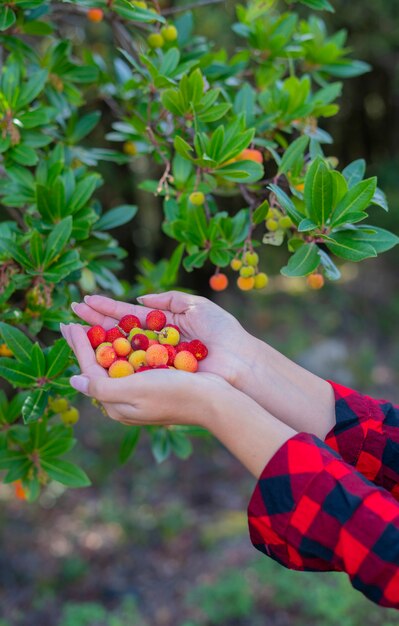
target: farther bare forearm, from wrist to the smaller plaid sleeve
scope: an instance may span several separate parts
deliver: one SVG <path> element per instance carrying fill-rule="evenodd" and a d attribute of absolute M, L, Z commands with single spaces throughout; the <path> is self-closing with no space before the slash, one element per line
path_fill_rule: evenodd
<path fill-rule="evenodd" d="M 297 432 L 324 439 L 335 425 L 331 385 L 259 339 L 246 339 L 235 386 Z"/>

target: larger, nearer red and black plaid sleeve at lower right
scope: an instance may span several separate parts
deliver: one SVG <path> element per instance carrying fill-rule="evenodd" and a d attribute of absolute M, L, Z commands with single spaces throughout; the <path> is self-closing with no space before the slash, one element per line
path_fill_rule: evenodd
<path fill-rule="evenodd" d="M 399 609 L 399 504 L 314 435 L 298 433 L 268 462 L 248 522 L 253 545 L 285 567 L 346 572 Z"/>

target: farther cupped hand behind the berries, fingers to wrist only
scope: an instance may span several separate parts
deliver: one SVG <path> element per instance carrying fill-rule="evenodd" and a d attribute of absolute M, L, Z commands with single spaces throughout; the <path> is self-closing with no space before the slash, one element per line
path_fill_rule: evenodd
<path fill-rule="evenodd" d="M 151 294 L 139 298 L 144 306 L 127 304 L 104 296 L 86 296 L 74 303 L 73 310 L 90 325 L 106 330 L 128 314 L 142 323 L 153 309 L 165 312 L 167 321 L 182 331 L 183 341 L 200 339 L 208 347 L 207 358 L 199 363 L 200 372 L 216 374 L 234 386 L 254 363 L 252 337 L 230 313 L 202 296 L 180 291 Z"/>

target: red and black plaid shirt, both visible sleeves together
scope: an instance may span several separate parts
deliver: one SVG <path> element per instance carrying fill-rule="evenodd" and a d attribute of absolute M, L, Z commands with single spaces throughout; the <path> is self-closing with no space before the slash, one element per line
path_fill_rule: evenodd
<path fill-rule="evenodd" d="M 298 433 L 267 463 L 248 505 L 251 541 L 290 569 L 346 572 L 399 609 L 399 407 L 330 384 L 336 425 L 325 441 Z"/>

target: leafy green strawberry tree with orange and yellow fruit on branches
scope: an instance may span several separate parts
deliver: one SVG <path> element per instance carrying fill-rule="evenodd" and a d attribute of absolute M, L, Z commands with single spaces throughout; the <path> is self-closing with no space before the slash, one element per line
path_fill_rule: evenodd
<path fill-rule="evenodd" d="M 49 480 L 89 484 L 64 459 L 79 415 L 76 365 L 58 331 L 73 300 L 97 290 L 129 299 L 204 265 L 215 290 L 234 271 L 238 288 L 263 289 L 261 246 L 285 246 L 282 274 L 320 288 L 339 279 L 342 259 L 398 242 L 365 222 L 388 210 L 377 180 L 362 159 L 341 167 L 323 129 L 342 80 L 369 69 L 350 57 L 344 31 L 328 32 L 323 10 L 333 10 L 327 0 L 237 4 L 227 51 L 190 11 L 157 0 L 2 3 L 0 470 L 30 500 Z M 86 31 L 109 42 L 106 54 L 85 45 Z M 143 259 L 130 286 L 118 280 L 127 253 L 112 231 L 138 208 L 104 206 L 97 169 L 139 159 L 140 187 L 158 197 L 176 245 L 168 259 Z M 184 429 L 148 430 L 158 461 L 189 455 Z M 129 431 L 121 460 L 140 432 Z"/>

